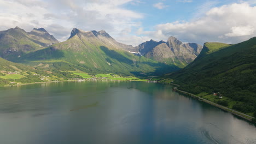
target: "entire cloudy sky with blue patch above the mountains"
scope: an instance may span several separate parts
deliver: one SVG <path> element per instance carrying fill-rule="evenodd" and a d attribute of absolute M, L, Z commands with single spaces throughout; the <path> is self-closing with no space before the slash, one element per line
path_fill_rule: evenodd
<path fill-rule="evenodd" d="M 256 1 L 0 0 L 0 31 L 43 27 L 60 41 L 73 28 L 104 29 L 121 43 L 146 40 L 239 43 L 256 36 Z"/>

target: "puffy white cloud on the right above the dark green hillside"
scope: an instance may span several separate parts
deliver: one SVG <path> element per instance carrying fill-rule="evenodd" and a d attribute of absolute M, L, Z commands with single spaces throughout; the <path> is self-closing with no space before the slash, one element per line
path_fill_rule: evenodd
<path fill-rule="evenodd" d="M 255 14 L 256 7 L 248 3 L 234 3 L 212 8 L 202 17 L 191 21 L 157 25 L 152 32 L 139 29 L 137 34 L 147 35 L 156 40 L 166 40 L 172 35 L 190 43 L 219 41 L 235 44 L 256 36 Z"/>

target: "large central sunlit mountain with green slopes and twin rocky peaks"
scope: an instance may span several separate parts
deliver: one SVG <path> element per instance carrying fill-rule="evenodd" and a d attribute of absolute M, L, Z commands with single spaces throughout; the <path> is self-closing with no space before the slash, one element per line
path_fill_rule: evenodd
<path fill-rule="evenodd" d="M 152 59 L 135 56 L 132 46 L 115 41 L 105 31 L 83 31 L 74 28 L 67 41 L 27 53 L 16 62 L 45 69 L 81 70 L 91 75 L 118 73 L 123 75 L 155 75 L 178 70 Z"/>

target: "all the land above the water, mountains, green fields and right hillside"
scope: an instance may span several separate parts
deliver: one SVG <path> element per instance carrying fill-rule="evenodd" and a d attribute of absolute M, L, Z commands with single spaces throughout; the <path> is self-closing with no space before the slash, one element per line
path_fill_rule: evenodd
<path fill-rule="evenodd" d="M 255 115 L 255 38 L 235 45 L 205 43 L 202 47 L 170 37 L 167 42 L 150 40 L 133 47 L 118 43 L 103 30 L 74 28 L 68 40 L 61 43 L 44 28 L 26 33 L 16 27 L 0 33 L 0 41 L 19 35 L 12 37 L 18 45 L 9 40 L 5 41 L 9 48 L 0 46 L 5 58 L 0 63 L 0 86 L 156 80 L 176 83 L 182 91 Z M 42 42 L 35 45 L 28 41 L 34 39 Z"/>

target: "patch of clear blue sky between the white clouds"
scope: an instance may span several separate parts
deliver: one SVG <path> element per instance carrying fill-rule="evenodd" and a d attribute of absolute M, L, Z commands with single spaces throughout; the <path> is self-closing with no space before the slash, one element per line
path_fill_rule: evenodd
<path fill-rule="evenodd" d="M 155 25 L 174 21 L 189 21 L 202 16 L 207 9 L 229 4 L 235 1 L 140 1 L 137 4 L 126 4 L 124 8 L 144 15 L 140 21 L 146 31 L 153 31 Z M 155 4 L 162 8 L 154 7 Z"/>

